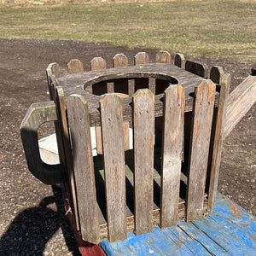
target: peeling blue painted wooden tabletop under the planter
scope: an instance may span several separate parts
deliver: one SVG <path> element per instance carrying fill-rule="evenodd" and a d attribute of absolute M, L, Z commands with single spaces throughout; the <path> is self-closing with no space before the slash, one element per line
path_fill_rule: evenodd
<path fill-rule="evenodd" d="M 102 241 L 107 255 L 256 255 L 256 217 L 223 195 L 212 214 L 189 223 L 135 236 Z"/>

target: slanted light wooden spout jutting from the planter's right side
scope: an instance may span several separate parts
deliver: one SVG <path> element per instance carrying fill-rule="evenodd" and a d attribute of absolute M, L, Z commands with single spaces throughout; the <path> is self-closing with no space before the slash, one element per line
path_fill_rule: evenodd
<path fill-rule="evenodd" d="M 234 129 L 256 102 L 256 76 L 249 75 L 230 93 L 224 128 L 224 138 Z"/>

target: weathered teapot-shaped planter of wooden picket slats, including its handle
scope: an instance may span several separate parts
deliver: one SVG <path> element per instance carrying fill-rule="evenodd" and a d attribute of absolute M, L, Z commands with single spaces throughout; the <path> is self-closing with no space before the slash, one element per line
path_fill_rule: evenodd
<path fill-rule="evenodd" d="M 64 184 L 84 241 L 123 240 L 212 212 L 222 142 L 236 125 L 225 119 L 230 75 L 181 54 L 173 65 L 166 51 L 148 62 L 141 52 L 128 67 L 119 54 L 107 69 L 96 57 L 84 72 L 72 60 L 65 74 L 51 63 L 51 101 L 33 104 L 21 124 L 30 171 Z M 46 121 L 55 121 L 60 165 L 34 153 Z"/>

